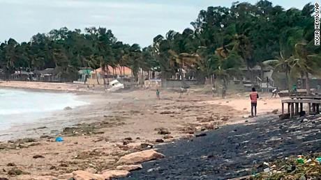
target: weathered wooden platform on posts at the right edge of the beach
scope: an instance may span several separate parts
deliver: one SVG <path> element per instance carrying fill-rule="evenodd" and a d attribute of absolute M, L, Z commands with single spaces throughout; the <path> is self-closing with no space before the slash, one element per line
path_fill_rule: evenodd
<path fill-rule="evenodd" d="M 307 104 L 308 114 L 319 114 L 321 96 L 291 96 L 292 99 L 282 100 L 282 115 L 284 115 L 284 104 L 288 104 L 290 118 L 299 115 L 304 111 L 304 104 Z"/>

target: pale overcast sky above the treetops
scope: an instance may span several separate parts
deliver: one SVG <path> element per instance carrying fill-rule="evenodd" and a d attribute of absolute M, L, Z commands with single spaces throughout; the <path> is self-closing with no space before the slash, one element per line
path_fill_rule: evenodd
<path fill-rule="evenodd" d="M 200 10 L 230 7 L 235 0 L 0 0 L 0 42 L 30 40 L 54 28 L 112 29 L 118 40 L 142 47 L 170 29 L 191 27 Z M 241 2 L 241 1 L 240 1 Z M 255 3 L 256 0 L 247 2 Z M 285 8 L 303 8 L 307 0 L 272 0 Z"/>

